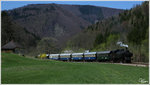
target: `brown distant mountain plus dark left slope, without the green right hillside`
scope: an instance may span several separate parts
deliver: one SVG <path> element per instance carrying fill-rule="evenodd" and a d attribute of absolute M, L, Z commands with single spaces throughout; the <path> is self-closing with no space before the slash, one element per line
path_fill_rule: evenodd
<path fill-rule="evenodd" d="M 30 4 L 2 12 L 2 45 L 14 40 L 31 54 L 58 53 L 72 36 L 123 10 L 90 5 Z M 37 50 L 37 51 L 36 51 Z"/>

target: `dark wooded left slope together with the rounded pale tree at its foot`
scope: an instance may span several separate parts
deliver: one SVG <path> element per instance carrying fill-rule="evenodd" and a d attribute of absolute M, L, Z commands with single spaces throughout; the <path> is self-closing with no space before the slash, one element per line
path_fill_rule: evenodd
<path fill-rule="evenodd" d="M 22 26 L 15 23 L 8 14 L 2 12 L 2 43 L 13 40 L 21 46 L 21 53 L 25 55 L 37 55 L 40 53 L 57 53 L 58 49 L 57 40 L 52 37 L 40 38 L 35 34 L 27 31 Z M 50 50 L 51 49 L 51 50 Z"/>

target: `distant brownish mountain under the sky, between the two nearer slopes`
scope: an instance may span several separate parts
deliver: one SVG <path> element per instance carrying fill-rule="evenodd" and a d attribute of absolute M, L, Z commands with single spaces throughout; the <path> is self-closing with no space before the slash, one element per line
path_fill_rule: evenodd
<path fill-rule="evenodd" d="M 60 47 L 65 47 L 68 39 L 88 25 L 122 11 L 90 5 L 30 4 L 7 13 L 30 33 L 40 38 L 52 37 Z"/>

